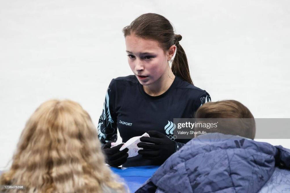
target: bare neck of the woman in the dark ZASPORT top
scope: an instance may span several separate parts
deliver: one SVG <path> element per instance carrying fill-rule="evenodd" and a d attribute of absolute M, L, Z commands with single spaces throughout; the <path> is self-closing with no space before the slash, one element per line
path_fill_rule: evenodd
<path fill-rule="evenodd" d="M 169 89 L 174 79 L 175 75 L 168 65 L 168 69 L 165 70 L 163 75 L 158 80 L 150 85 L 143 86 L 143 89 L 150 96 L 162 95 Z"/>

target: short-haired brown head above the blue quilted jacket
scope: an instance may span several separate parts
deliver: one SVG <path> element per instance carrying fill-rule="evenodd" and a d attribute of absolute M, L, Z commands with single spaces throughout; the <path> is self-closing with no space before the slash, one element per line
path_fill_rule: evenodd
<path fill-rule="evenodd" d="M 246 106 L 236 100 L 207 102 L 197 109 L 195 118 L 226 118 L 218 123 L 217 128 L 212 128 L 209 132 L 255 138 L 254 117 Z"/>

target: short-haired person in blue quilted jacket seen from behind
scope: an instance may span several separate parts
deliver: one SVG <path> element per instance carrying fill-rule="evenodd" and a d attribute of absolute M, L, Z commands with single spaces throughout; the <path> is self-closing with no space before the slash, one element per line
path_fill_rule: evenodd
<path fill-rule="evenodd" d="M 135 193 L 289 192 L 290 149 L 252 140 L 255 122 L 247 107 L 236 100 L 208 102 L 195 115 L 197 122 L 242 121 L 226 122 L 191 139 Z"/>

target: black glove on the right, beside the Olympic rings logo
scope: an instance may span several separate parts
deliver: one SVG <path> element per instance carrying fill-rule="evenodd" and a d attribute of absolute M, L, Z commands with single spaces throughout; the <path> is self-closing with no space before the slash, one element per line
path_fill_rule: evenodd
<path fill-rule="evenodd" d="M 176 151 L 177 144 L 158 131 L 148 131 L 147 133 L 150 137 L 141 137 L 141 142 L 137 144 L 138 147 L 143 148 L 138 151 L 138 154 L 141 154 L 144 159 L 154 160 L 155 163 L 164 163 Z"/>

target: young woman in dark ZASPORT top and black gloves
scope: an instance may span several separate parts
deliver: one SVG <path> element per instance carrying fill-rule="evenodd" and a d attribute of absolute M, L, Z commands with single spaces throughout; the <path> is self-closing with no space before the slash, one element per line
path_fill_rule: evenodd
<path fill-rule="evenodd" d="M 106 162 L 112 166 L 161 165 L 188 140 L 175 140 L 173 118 L 192 118 L 209 94 L 193 85 L 187 58 L 171 23 L 153 13 L 137 17 L 123 28 L 128 63 L 134 75 L 110 82 L 98 134 Z M 175 54 L 176 52 L 176 54 Z M 172 67 L 169 61 L 175 54 Z M 147 132 L 138 146 L 139 155 L 128 158 L 117 140 L 117 128 L 123 142 Z M 153 143 L 148 145 L 147 143 Z"/>

